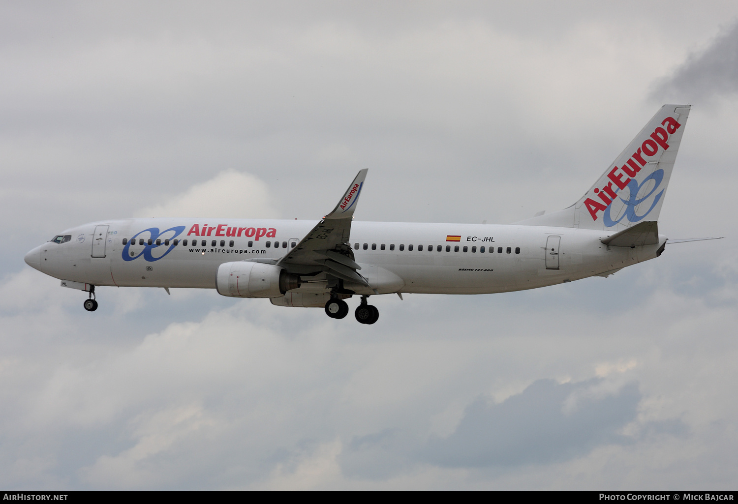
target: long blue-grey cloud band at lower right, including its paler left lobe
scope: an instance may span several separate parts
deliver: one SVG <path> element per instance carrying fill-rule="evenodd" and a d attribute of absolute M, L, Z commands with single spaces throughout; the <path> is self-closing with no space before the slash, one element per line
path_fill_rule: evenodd
<path fill-rule="evenodd" d="M 558 384 L 537 380 L 500 404 L 480 397 L 466 407 L 446 438 L 427 442 L 411 432 L 385 429 L 356 436 L 339 457 L 347 477 L 382 479 L 431 463 L 448 468 L 514 468 L 586 455 L 605 443 L 627 445 L 656 435 L 683 436 L 678 419 L 642 424 L 635 436 L 620 433 L 634 421 L 641 402 L 638 384 L 613 387 L 605 379 Z"/>

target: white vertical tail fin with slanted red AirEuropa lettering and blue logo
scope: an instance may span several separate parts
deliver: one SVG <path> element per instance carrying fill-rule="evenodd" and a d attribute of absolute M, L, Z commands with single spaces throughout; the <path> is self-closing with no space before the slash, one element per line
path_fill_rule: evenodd
<path fill-rule="evenodd" d="M 565 210 L 517 224 L 617 232 L 644 219 L 657 221 L 689 108 L 689 105 L 661 107 L 579 201 Z"/>

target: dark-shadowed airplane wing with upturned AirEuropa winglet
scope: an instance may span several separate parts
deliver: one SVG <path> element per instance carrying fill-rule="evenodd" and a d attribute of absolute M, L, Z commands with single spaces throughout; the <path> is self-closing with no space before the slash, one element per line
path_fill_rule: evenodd
<path fill-rule="evenodd" d="M 325 215 L 292 250 L 277 262 L 295 275 L 327 275 L 368 285 L 359 275 L 361 266 L 354 262 L 354 251 L 348 243 L 351 235 L 351 219 L 356 210 L 356 201 L 364 187 L 368 169 L 360 170 L 354 182 L 348 186 L 336 207 Z"/>

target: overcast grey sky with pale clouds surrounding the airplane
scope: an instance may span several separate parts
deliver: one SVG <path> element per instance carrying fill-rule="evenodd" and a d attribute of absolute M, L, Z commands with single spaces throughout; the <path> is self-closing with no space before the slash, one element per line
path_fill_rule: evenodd
<path fill-rule="evenodd" d="M 734 1 L 0 4 L 0 487 L 735 489 Z M 375 325 L 23 262 L 165 215 L 506 224 L 692 103 L 618 274 Z M 352 300 L 351 306 L 356 300 Z"/>

